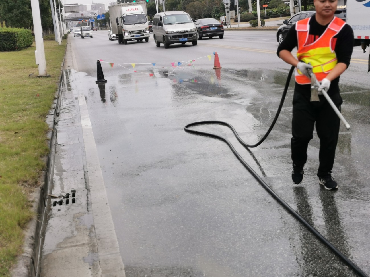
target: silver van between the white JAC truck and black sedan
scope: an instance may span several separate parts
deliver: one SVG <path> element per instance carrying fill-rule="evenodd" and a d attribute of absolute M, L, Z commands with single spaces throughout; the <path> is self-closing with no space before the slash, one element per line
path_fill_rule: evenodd
<path fill-rule="evenodd" d="M 193 20 L 185 11 L 165 11 L 153 17 L 153 38 L 157 47 L 170 44 L 191 42 L 196 45 L 198 32 Z"/>

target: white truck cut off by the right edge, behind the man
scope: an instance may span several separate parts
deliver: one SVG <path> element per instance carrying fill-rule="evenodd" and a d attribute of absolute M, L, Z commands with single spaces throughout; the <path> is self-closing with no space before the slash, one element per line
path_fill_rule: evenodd
<path fill-rule="evenodd" d="M 370 45 L 370 1 L 369 0 L 351 0 L 346 5 L 346 22 L 353 29 L 354 46 L 360 46 L 364 53 L 367 46 Z M 370 47 L 370 46 L 369 46 Z M 370 54 L 368 71 L 370 71 Z"/>

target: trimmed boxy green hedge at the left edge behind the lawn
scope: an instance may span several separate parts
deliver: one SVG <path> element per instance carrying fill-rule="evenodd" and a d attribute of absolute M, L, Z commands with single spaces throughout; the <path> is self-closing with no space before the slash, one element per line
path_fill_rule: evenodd
<path fill-rule="evenodd" d="M 19 51 L 32 46 L 31 30 L 21 28 L 0 28 L 0 51 Z"/>

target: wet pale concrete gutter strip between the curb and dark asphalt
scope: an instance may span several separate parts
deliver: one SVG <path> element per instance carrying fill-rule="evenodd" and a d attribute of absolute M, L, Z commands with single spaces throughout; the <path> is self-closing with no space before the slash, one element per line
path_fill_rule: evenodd
<path fill-rule="evenodd" d="M 39 276 L 125 276 L 87 106 L 67 43 Z M 37 275 L 37 273 L 36 273 Z"/>

